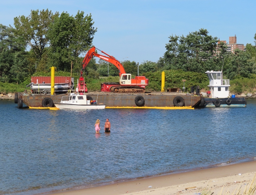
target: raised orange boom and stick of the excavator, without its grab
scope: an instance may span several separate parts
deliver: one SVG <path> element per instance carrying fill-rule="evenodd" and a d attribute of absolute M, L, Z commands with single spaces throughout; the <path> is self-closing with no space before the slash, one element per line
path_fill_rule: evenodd
<path fill-rule="evenodd" d="M 105 60 L 105 61 L 107 61 L 107 62 L 109 62 L 109 63 L 115 65 L 115 66 L 118 68 L 118 70 L 119 70 L 119 76 L 120 76 L 120 77 L 121 77 L 122 74 L 125 74 L 125 73 L 126 73 L 125 70 L 124 70 L 124 67 L 122 66 L 122 64 L 121 64 L 115 57 L 110 56 L 110 55 L 108 55 L 107 53 L 105 53 L 104 51 L 101 51 L 101 50 L 98 49 L 99 51 L 101 51 L 102 53 L 106 54 L 107 56 L 100 55 L 100 54 L 98 54 L 98 53 L 95 52 L 95 49 L 96 49 L 96 47 L 92 47 L 92 48 L 87 52 L 87 54 L 85 55 L 85 58 L 84 58 L 83 63 L 82 63 L 83 68 L 82 68 L 82 70 L 80 71 L 81 77 L 82 77 L 82 75 L 83 75 L 83 72 L 84 72 L 85 67 L 89 64 L 89 62 L 90 62 L 90 60 L 92 59 L 93 56 L 99 57 L 99 58 L 101 58 L 102 60 Z"/>

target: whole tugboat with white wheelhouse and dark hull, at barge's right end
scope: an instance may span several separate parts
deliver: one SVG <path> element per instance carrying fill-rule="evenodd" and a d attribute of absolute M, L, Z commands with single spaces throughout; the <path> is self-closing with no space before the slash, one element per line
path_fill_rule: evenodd
<path fill-rule="evenodd" d="M 222 71 L 206 71 L 210 80 L 210 91 L 207 91 L 205 107 L 246 107 L 244 97 L 229 96 L 229 79 L 223 79 Z"/>

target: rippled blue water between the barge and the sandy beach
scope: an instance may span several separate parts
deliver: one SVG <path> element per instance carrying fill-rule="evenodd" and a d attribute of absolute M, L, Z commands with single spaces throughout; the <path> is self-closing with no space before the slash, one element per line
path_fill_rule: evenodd
<path fill-rule="evenodd" d="M 246 108 L 34 110 L 0 101 L 0 194 L 36 194 L 256 157 Z M 100 119 L 100 134 L 94 124 Z M 105 119 L 111 133 L 103 132 Z"/>

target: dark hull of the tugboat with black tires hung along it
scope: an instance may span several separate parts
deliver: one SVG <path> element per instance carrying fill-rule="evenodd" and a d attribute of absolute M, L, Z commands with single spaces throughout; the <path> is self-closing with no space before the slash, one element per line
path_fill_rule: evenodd
<path fill-rule="evenodd" d="M 244 97 L 230 97 L 230 98 L 204 98 L 207 108 L 213 107 L 246 107 L 246 100 Z M 220 106 L 216 106 L 216 102 L 219 101 Z"/>

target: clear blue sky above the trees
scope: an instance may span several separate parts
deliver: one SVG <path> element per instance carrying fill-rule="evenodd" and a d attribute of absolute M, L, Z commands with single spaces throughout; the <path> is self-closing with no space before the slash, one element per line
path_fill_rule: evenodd
<path fill-rule="evenodd" d="M 14 17 L 47 8 L 91 13 L 97 27 L 93 44 L 119 61 L 156 62 L 171 34 L 186 36 L 200 28 L 227 42 L 236 34 L 237 43 L 255 44 L 254 0 L 2 0 L 0 23 L 13 26 Z"/>

